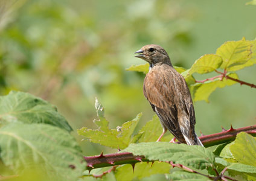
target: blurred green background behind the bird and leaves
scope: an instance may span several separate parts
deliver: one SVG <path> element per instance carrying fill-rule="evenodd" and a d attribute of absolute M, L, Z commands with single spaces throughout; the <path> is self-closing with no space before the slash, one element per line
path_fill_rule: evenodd
<path fill-rule="evenodd" d="M 110 127 L 142 112 L 141 127 L 154 113 L 142 93 L 145 75 L 125 71 L 145 63 L 133 53 L 158 44 L 173 65 L 190 68 L 227 40 L 255 39 L 256 6 L 246 2 L 0 0 L 0 94 L 21 90 L 50 101 L 74 135 L 82 126 L 95 128 L 95 97 Z M 255 84 L 255 70 L 245 68 L 238 76 Z M 235 84 L 209 100 L 194 103 L 197 134 L 255 124 L 255 89 Z M 86 155 L 103 149 L 88 142 L 82 147 Z"/>

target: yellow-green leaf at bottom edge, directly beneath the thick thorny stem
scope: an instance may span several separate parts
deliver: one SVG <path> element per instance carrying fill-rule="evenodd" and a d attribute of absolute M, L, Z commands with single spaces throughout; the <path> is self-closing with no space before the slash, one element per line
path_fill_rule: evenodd
<path fill-rule="evenodd" d="M 115 173 L 115 178 L 122 181 L 131 181 L 135 178 L 142 179 L 153 174 L 169 173 L 169 171 L 170 164 L 164 162 L 154 162 L 153 165 L 151 162 L 141 162 L 135 165 L 134 172 L 132 165 L 129 164 L 118 167 Z"/>

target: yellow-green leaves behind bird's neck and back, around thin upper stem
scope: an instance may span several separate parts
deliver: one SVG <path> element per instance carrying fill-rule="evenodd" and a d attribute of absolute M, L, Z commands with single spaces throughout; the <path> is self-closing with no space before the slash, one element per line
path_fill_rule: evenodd
<path fill-rule="evenodd" d="M 188 86 L 194 101 L 206 101 L 211 93 L 218 87 L 231 86 L 236 81 L 227 79 L 225 76 L 209 78 L 203 82 L 196 81 L 194 74 L 208 74 L 210 72 L 222 71 L 229 77 L 238 79 L 235 71 L 252 66 L 256 63 L 256 40 L 238 40 L 223 43 L 216 54 L 205 54 L 194 62 L 190 69 L 174 67 L 181 73 Z M 132 65 L 127 71 L 148 72 L 149 65 Z M 221 75 L 221 74 L 219 74 Z"/>

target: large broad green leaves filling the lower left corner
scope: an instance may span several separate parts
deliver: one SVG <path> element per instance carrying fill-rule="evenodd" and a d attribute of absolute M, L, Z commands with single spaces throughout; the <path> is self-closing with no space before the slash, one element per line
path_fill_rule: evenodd
<path fill-rule="evenodd" d="M 24 173 L 37 172 L 36 180 L 76 180 L 82 175 L 82 151 L 55 106 L 24 92 L 0 97 L 0 105 L 2 176 L 24 179 Z"/>

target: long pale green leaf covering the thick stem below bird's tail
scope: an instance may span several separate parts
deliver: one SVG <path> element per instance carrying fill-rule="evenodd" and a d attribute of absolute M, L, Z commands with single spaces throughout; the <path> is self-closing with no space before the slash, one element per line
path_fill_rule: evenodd
<path fill-rule="evenodd" d="M 130 144 L 123 152 L 144 155 L 149 160 L 173 161 L 197 169 L 214 164 L 214 154 L 198 145 L 170 144 L 169 142 L 142 142 Z"/>

